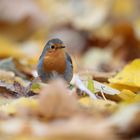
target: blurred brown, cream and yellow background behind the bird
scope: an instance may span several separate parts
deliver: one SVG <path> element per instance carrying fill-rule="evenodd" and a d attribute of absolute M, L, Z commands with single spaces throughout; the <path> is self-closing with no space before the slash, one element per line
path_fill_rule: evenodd
<path fill-rule="evenodd" d="M 78 70 L 118 71 L 140 57 L 139 7 L 139 0 L 0 0 L 0 59 L 14 58 L 30 75 L 57 37 Z"/>

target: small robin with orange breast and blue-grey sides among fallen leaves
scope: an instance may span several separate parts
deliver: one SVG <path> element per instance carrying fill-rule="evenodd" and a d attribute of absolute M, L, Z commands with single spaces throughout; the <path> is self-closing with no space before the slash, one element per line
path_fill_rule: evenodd
<path fill-rule="evenodd" d="M 54 38 L 46 43 L 39 58 L 37 72 L 42 82 L 62 78 L 70 83 L 73 77 L 73 64 L 63 41 Z"/>

